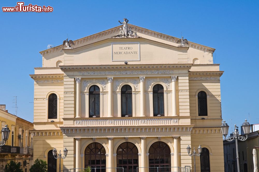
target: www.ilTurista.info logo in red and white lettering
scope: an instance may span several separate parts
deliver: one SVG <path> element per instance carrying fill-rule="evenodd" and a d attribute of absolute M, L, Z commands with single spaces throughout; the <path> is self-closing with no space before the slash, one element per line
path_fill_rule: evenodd
<path fill-rule="evenodd" d="M 17 2 L 15 7 L 2 7 L 3 12 L 52 12 L 51 6 L 24 5 L 24 2 Z"/>

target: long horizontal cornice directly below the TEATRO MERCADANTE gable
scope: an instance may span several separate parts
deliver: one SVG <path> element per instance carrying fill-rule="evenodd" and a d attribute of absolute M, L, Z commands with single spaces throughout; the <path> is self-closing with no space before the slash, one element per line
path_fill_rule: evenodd
<path fill-rule="evenodd" d="M 192 64 L 134 64 L 134 65 L 71 65 L 60 66 L 62 71 L 117 71 L 117 70 L 168 70 L 168 69 L 181 69 L 190 70 Z"/>

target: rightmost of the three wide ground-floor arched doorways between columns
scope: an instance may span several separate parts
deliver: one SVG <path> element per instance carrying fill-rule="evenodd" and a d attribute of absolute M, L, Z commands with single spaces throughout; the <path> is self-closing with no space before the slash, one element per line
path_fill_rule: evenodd
<path fill-rule="evenodd" d="M 157 172 L 157 168 L 159 167 L 158 171 L 171 171 L 171 154 L 170 154 L 169 146 L 162 142 L 157 141 L 153 143 L 149 148 L 149 172 Z"/>

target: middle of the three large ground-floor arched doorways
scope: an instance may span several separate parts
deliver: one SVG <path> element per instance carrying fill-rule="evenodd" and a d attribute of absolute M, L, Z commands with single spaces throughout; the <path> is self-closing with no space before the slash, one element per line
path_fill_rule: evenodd
<path fill-rule="evenodd" d="M 120 144 L 117 149 L 117 167 L 123 167 L 124 172 L 136 172 L 138 163 L 138 148 L 131 142 Z M 122 170 L 117 169 L 117 171 Z"/>

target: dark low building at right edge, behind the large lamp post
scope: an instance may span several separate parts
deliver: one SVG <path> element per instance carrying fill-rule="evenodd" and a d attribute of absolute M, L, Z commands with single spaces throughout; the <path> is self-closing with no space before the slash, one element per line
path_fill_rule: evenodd
<path fill-rule="evenodd" d="M 251 126 L 253 127 L 253 126 Z M 223 141 L 225 172 L 236 172 L 236 144 L 235 140 Z M 254 171 L 253 148 L 259 146 L 259 131 L 248 134 L 246 141 L 238 141 L 239 166 L 241 172 Z M 259 164 L 259 151 L 257 151 L 257 164 Z"/>

